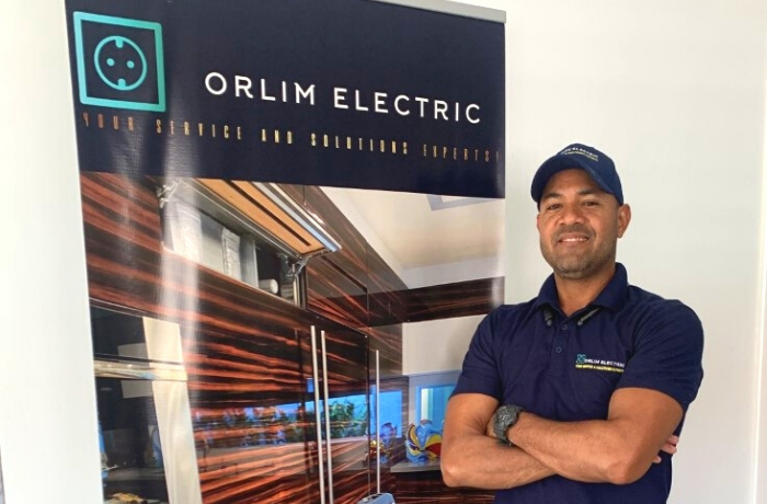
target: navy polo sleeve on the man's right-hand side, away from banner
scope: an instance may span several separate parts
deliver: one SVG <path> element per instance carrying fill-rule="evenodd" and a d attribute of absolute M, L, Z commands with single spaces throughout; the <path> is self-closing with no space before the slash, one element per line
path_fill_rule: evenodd
<path fill-rule="evenodd" d="M 698 316 L 682 302 L 659 305 L 637 327 L 634 352 L 617 388 L 657 390 L 687 411 L 703 378 L 703 329 Z"/>

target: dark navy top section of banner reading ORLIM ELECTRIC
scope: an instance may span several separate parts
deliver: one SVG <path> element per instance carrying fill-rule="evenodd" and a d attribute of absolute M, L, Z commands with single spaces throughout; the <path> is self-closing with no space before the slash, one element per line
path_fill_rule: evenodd
<path fill-rule="evenodd" d="M 67 1 L 80 165 L 502 197 L 503 24 L 375 1 Z"/>

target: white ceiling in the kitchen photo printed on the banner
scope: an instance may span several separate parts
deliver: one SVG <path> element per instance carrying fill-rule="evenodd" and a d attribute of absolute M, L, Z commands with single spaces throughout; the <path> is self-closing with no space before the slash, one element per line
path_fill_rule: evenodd
<path fill-rule="evenodd" d="M 398 273 L 502 253 L 503 199 L 322 190 Z"/>

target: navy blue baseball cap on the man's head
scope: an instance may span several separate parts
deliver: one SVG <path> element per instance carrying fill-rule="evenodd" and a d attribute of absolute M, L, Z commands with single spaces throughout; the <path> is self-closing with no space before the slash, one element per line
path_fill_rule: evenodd
<path fill-rule="evenodd" d="M 585 170 L 604 192 L 618 199 L 618 205 L 623 204 L 623 190 L 620 186 L 620 177 L 615 170 L 613 160 L 607 154 L 583 144 L 572 144 L 565 147 L 540 165 L 533 177 L 533 186 L 530 187 L 533 199 L 540 203 L 549 179 L 563 170 L 573 168 Z"/>

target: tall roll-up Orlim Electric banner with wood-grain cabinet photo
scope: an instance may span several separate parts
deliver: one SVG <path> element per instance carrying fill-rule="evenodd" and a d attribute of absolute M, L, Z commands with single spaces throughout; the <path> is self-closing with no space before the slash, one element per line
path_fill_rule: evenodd
<path fill-rule="evenodd" d="M 182 364 L 152 376 L 190 398 L 183 440 L 151 387 L 96 378 L 105 500 L 389 491 L 370 474 L 422 420 L 407 375 L 457 369 L 461 355 L 426 348 L 462 354 L 472 317 L 503 298 L 505 14 L 442 0 L 66 12 L 94 358 Z M 157 357 L 148 320 L 178 324 L 182 363 Z"/>

